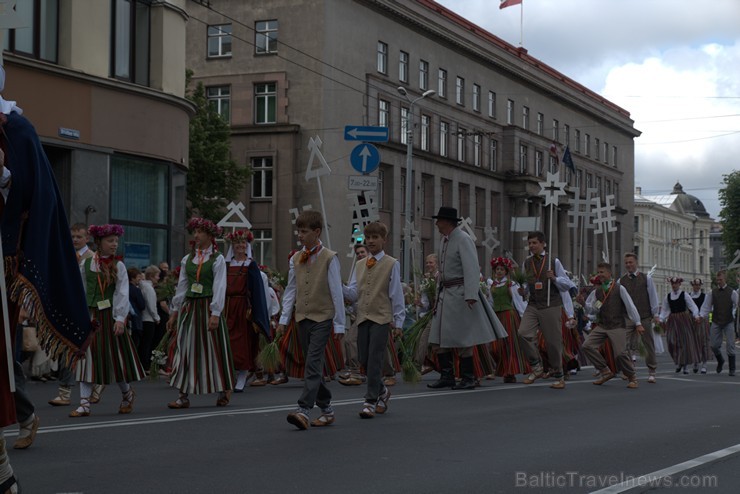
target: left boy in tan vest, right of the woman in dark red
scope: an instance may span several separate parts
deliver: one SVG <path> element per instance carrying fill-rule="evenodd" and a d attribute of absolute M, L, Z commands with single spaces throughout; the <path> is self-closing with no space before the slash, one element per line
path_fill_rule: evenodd
<path fill-rule="evenodd" d="M 314 427 L 334 423 L 331 391 L 324 384 L 324 348 L 332 332 L 344 334 L 344 299 L 337 253 L 323 246 L 321 231 L 324 218 L 318 211 L 308 210 L 296 219 L 298 240 L 303 249 L 290 258 L 288 286 L 283 293 L 283 311 L 277 335 L 285 332 L 293 309 L 298 324 L 298 338 L 306 359 L 303 392 L 298 409 L 288 414 L 288 422 L 299 429 L 308 429 L 308 417 L 314 405 L 321 408 Z"/>

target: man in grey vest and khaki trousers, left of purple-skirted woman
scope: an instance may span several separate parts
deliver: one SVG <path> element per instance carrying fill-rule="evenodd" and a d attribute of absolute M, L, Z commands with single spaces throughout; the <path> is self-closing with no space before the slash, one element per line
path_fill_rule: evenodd
<path fill-rule="evenodd" d="M 654 384 L 658 363 L 655 358 L 653 322 L 657 322 L 660 315 L 658 292 L 655 289 L 653 277 L 637 270 L 637 254 L 627 252 L 624 255 L 624 268 L 627 273 L 619 279 L 619 284 L 627 289 L 627 293 L 640 314 L 642 327 L 645 328 L 645 331 L 638 333 L 635 324 L 627 319 L 627 349 L 630 355 L 637 354 L 638 338 L 642 339 L 645 347 L 645 365 L 648 368 L 648 382 Z"/>

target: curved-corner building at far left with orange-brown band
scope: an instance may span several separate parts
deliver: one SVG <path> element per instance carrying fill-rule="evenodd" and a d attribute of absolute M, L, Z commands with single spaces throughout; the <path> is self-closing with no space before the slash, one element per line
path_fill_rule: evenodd
<path fill-rule="evenodd" d="M 3 97 L 36 127 L 70 222 L 123 224 L 131 265 L 179 259 L 185 245 L 186 7 L 28 0 L 24 27 L 2 37 Z"/>

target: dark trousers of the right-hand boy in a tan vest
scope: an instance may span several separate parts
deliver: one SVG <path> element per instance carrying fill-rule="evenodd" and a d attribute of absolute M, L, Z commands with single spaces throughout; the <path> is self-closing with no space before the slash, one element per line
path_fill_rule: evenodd
<path fill-rule="evenodd" d="M 368 403 L 376 403 L 383 391 L 383 358 L 390 330 L 390 324 L 373 321 L 363 321 L 357 327 L 357 350 L 367 375 L 365 401 Z"/>

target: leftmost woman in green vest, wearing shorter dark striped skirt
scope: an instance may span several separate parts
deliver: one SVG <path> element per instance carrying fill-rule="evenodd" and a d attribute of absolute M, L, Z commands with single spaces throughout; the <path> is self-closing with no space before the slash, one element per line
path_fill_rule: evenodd
<path fill-rule="evenodd" d="M 113 383 L 118 384 L 123 395 L 118 413 L 131 413 L 135 394 L 129 383 L 141 380 L 145 373 L 125 325 L 129 311 L 128 274 L 121 258 L 115 255 L 123 227 L 91 225 L 88 231 L 98 249 L 94 257 L 80 263 L 80 271 L 90 317 L 99 328 L 85 359 L 77 365 L 80 406 L 69 416 L 89 416 L 93 384 Z"/>

